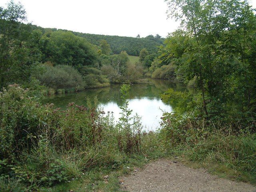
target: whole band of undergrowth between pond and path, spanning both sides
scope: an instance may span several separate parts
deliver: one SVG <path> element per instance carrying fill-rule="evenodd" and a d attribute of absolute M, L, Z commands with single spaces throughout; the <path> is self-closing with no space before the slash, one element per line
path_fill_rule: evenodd
<path fill-rule="evenodd" d="M 118 176 L 130 167 L 172 155 L 200 166 L 211 164 L 220 176 L 255 183 L 254 133 L 178 113 L 165 113 L 158 132 L 142 132 L 140 117 L 130 116 L 128 91 L 129 86 L 122 86 L 122 116 L 114 124 L 110 113 L 97 109 L 97 102 L 87 107 L 70 103 L 60 110 L 38 103 L 35 92 L 16 84 L 4 89 L 1 191 L 58 191 L 80 185 L 85 191 L 118 191 Z M 108 182 L 106 174 L 111 175 Z"/>

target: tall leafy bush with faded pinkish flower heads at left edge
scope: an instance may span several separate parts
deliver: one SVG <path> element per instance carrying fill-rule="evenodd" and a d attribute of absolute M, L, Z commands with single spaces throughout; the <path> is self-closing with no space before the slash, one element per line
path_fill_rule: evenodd
<path fill-rule="evenodd" d="M 16 151 L 29 148 L 45 118 L 28 90 L 14 84 L 0 92 L 0 160 L 10 162 Z"/>

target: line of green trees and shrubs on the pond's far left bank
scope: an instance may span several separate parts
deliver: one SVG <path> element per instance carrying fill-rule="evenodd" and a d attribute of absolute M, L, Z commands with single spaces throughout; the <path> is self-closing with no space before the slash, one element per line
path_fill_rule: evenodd
<path fill-rule="evenodd" d="M 155 51 L 155 44 L 162 42 L 160 36 L 138 39 L 109 36 L 110 43 L 107 41 L 110 39 L 97 36 L 88 41 L 86 36 L 75 32 L 24 24 L 26 19 L 23 6 L 13 1 L 0 10 L 1 88 L 13 83 L 30 87 L 31 82 L 36 82 L 44 86 L 44 94 L 54 94 L 108 86 L 110 82 L 139 82 L 142 67 L 129 62 L 124 47 L 116 51 L 111 45 L 116 42 L 120 46 L 122 42 L 130 49 L 139 49 L 145 41 Z M 130 42 L 136 39 L 140 46 L 128 45 L 125 39 Z"/>

